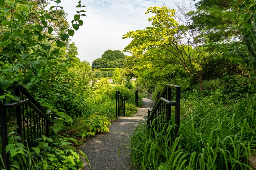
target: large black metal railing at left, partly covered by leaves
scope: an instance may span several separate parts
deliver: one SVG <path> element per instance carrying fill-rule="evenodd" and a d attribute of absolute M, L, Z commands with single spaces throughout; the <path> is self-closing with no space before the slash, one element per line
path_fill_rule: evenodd
<path fill-rule="evenodd" d="M 5 168 L 9 169 L 9 155 L 6 153 L 8 136 L 16 131 L 22 140 L 33 146 L 35 139 L 49 135 L 49 125 L 53 125 L 53 122 L 46 116 L 46 110 L 21 85 L 10 86 L 6 91 L 20 98 L 19 101 L 11 103 L 7 103 L 6 98 L 3 103 L 0 102 L 2 157 Z M 4 95 L 6 91 L 0 89 L 0 95 Z"/>

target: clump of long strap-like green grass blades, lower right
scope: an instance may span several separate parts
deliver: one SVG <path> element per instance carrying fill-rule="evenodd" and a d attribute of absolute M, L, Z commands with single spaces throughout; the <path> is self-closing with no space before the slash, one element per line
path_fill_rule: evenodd
<path fill-rule="evenodd" d="M 158 126 L 155 122 L 153 127 Z M 135 169 L 252 169 L 256 96 L 237 100 L 233 106 L 199 105 L 181 120 L 176 139 L 175 125 L 161 127 L 148 129 L 141 123 L 132 134 L 129 148 Z"/>

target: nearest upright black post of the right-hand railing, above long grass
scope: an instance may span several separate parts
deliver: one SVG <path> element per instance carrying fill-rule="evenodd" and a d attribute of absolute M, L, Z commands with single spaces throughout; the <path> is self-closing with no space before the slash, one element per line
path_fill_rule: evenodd
<path fill-rule="evenodd" d="M 174 135 L 177 137 L 180 129 L 180 107 L 181 107 L 181 87 L 176 88 L 176 107 L 175 107 L 175 128 Z"/>

